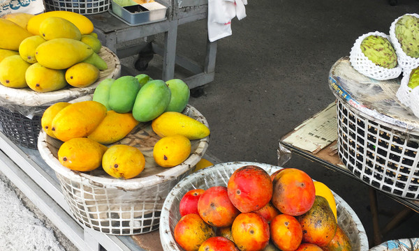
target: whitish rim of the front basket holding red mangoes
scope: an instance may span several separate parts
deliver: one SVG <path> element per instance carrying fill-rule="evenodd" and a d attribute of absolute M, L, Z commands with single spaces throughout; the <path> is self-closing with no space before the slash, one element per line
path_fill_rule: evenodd
<path fill-rule="evenodd" d="M 222 170 L 228 165 L 234 165 L 234 166 L 240 166 L 240 167 L 244 165 L 256 165 L 258 167 L 262 167 L 263 169 L 265 169 L 265 171 L 269 169 L 277 170 L 277 169 L 284 168 L 284 167 L 278 167 L 275 165 L 270 165 L 270 164 L 260 163 L 260 162 L 240 162 L 240 161 L 224 162 L 224 163 L 212 165 L 211 167 L 200 169 L 197 172 L 189 174 L 189 176 L 186 176 L 185 178 L 183 178 L 182 181 L 179 181 L 179 183 L 177 183 L 175 187 L 173 187 L 172 190 L 170 190 L 170 193 L 168 194 L 168 196 L 166 197 L 163 203 L 163 208 L 161 209 L 159 234 L 160 234 L 160 241 L 161 241 L 161 245 L 163 246 L 163 250 L 179 250 L 177 249 L 175 240 L 172 237 L 172 232 L 170 231 L 170 225 L 169 225 L 169 220 L 170 220 L 169 208 L 170 208 L 170 205 L 173 203 L 177 192 L 189 186 L 189 184 L 192 183 L 193 181 L 205 176 L 205 173 L 214 172 L 214 170 Z M 355 222 L 355 225 L 359 231 L 359 236 L 360 236 L 360 250 L 368 250 L 369 244 L 368 244 L 367 233 L 364 229 L 364 226 L 362 225 L 360 218 L 355 213 L 355 211 L 353 211 L 351 206 L 349 206 L 349 204 L 346 203 L 346 201 L 344 201 L 344 199 L 342 199 L 335 192 L 332 191 L 332 193 L 333 195 L 335 195 L 335 200 L 337 204 L 340 204 L 343 208 L 345 208 L 346 211 L 348 211 L 348 213 L 351 215 L 353 222 Z"/>

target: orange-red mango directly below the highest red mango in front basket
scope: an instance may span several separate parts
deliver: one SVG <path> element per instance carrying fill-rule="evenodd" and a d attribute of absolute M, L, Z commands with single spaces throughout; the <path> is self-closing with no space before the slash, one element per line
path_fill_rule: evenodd
<path fill-rule="evenodd" d="M 263 250 L 270 240 L 270 227 L 257 213 L 240 213 L 231 226 L 233 240 L 241 251 Z"/>

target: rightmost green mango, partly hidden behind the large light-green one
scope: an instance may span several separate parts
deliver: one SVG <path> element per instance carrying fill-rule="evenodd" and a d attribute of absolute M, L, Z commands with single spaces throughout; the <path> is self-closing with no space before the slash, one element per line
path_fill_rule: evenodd
<path fill-rule="evenodd" d="M 165 112 L 182 112 L 189 102 L 191 91 L 189 86 L 181 79 L 170 79 L 166 81 L 167 86 L 170 88 L 172 96 Z"/>

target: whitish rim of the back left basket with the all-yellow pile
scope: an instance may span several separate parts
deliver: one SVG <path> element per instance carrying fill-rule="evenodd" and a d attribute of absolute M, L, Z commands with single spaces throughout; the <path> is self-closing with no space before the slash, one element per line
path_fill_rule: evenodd
<path fill-rule="evenodd" d="M 115 68 L 101 71 L 99 79 L 96 80 L 94 84 L 91 84 L 87 87 L 68 87 L 68 89 L 61 89 L 57 91 L 48 91 L 48 92 L 36 92 L 31 90 L 29 87 L 24 89 L 13 89 L 10 87 L 3 86 L 0 84 L 0 105 L 19 105 L 27 107 L 38 107 L 38 106 L 49 106 L 54 102 L 59 102 L 61 100 L 68 100 L 69 98 L 78 98 L 83 95 L 87 95 L 94 91 L 102 79 L 105 78 L 115 78 L 121 74 L 121 62 L 117 54 L 112 52 L 108 47 L 102 46 L 101 51 L 98 54 L 107 54 L 112 59 L 111 61 L 115 62 Z M 105 75 L 107 71 L 112 70 L 112 72 Z"/>

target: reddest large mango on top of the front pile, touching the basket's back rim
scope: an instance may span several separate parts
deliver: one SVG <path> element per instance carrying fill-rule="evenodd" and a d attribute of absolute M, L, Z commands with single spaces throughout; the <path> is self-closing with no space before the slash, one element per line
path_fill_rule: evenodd
<path fill-rule="evenodd" d="M 272 198 L 270 175 L 254 165 L 240 167 L 228 180 L 228 197 L 242 213 L 263 208 Z"/>

